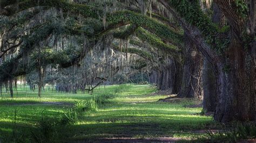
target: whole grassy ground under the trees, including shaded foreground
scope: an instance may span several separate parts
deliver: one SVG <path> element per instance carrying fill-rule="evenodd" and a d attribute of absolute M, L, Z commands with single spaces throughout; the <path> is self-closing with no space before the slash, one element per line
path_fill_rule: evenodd
<path fill-rule="evenodd" d="M 0 98 L 0 142 L 149 142 L 191 141 L 208 138 L 221 125 L 211 116 L 200 116 L 201 101 L 178 99 L 158 102 L 168 95 L 152 85 L 125 85 L 117 96 L 98 105 L 97 111 L 83 112 L 73 124 L 54 126 L 43 122 L 57 120 L 78 100 L 87 100 L 111 92 L 122 85 L 97 88 L 93 94 L 63 94 L 48 90 L 42 97 L 18 87 L 15 97 L 3 93 Z M 43 122 L 43 123 L 42 123 Z M 49 124 L 49 125 L 48 125 Z M 48 125 L 48 126 L 47 126 Z M 52 128 L 54 126 L 54 128 Z"/>

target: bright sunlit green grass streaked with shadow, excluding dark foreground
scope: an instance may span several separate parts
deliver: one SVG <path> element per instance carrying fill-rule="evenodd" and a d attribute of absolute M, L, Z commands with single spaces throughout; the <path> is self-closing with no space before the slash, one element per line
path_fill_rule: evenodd
<path fill-rule="evenodd" d="M 45 115 L 51 119 L 59 120 L 60 117 L 72 108 L 72 104 L 79 99 L 90 99 L 103 95 L 105 91 L 111 93 L 117 85 L 106 86 L 104 89 L 96 90 L 93 95 L 89 94 L 60 94 L 52 93 L 42 98 L 21 96 L 15 98 L 0 98 L 2 132 L 12 130 L 14 111 L 17 110 L 16 122 L 18 130 L 35 128 L 38 121 Z M 105 138 L 105 137 L 191 137 L 189 130 L 196 130 L 212 124 L 212 118 L 194 115 L 201 108 L 185 108 L 193 104 L 193 101 L 179 103 L 157 102 L 163 95 L 150 95 L 156 89 L 149 85 L 132 85 L 132 90 L 120 92 L 116 98 L 109 99 L 98 106 L 97 111 L 86 111 L 73 125 L 65 126 L 62 130 L 72 139 Z M 109 91 L 107 91 L 109 90 Z M 33 96 L 32 96 L 33 95 Z M 46 103 L 52 104 L 46 104 Z M 62 104 L 53 104 L 53 103 Z M 184 131 L 184 132 L 180 132 Z M 197 134 L 193 134 L 197 135 Z"/>

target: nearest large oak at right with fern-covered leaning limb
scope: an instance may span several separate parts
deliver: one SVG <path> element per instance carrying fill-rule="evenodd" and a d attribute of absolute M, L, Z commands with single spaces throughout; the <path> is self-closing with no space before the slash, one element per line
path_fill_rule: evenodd
<path fill-rule="evenodd" d="M 254 120 L 255 2 L 214 1 L 227 19 L 220 30 L 197 2 L 161 1 L 176 16 L 185 33 L 211 63 L 217 77 L 214 119 Z"/>

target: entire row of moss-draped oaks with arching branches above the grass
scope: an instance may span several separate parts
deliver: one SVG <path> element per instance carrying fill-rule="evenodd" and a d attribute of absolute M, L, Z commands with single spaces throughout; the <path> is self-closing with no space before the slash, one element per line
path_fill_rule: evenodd
<path fill-rule="evenodd" d="M 255 121 L 255 7 L 254 0 L 1 1 L 1 92 L 14 96 L 19 78 L 40 97 L 45 84 L 93 92 L 140 75 L 178 98 L 203 100 L 214 120 Z"/>

